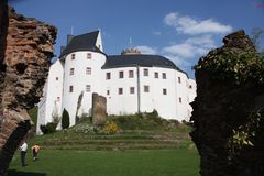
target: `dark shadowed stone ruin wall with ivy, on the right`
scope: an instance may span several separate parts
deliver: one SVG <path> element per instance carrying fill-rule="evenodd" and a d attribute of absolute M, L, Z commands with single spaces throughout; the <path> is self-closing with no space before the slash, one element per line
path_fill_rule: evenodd
<path fill-rule="evenodd" d="M 227 53 L 238 56 L 243 52 L 256 52 L 254 44 L 243 31 L 226 36 L 223 43 L 222 47 L 213 50 L 207 56 L 200 58 L 198 66 L 210 62 L 217 63 L 219 59 L 232 59 L 226 55 Z M 217 67 L 217 64 L 215 66 Z M 201 176 L 264 175 L 264 124 L 260 123 L 258 130 L 262 132 L 255 134 L 254 146 L 248 145 L 244 151 L 241 150 L 235 156 L 230 154 L 229 147 L 233 130 L 248 124 L 251 111 L 263 110 L 263 80 L 249 79 L 243 84 L 234 84 L 233 80 L 228 78 L 219 80 L 213 76 L 220 77 L 223 72 L 213 73 L 212 70 L 216 67 L 212 69 L 196 69 L 197 97 L 191 105 L 194 108 L 191 117 L 194 131 L 190 135 L 200 154 L 200 174 Z M 254 65 L 252 68 L 246 67 L 246 69 L 255 72 L 258 65 Z M 263 78 L 263 76 L 262 62 L 262 70 L 258 75 L 255 74 L 252 77 Z"/>

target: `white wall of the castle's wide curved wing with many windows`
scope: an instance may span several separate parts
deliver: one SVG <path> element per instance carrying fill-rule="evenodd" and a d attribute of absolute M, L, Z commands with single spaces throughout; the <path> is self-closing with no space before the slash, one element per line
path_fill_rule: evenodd
<path fill-rule="evenodd" d="M 144 76 L 144 69 L 148 70 L 148 76 Z M 134 77 L 129 78 L 129 70 L 134 72 Z M 119 73 L 123 72 L 124 77 L 119 78 Z M 110 79 L 106 79 L 107 73 L 111 74 Z M 154 73 L 158 74 L 155 78 Z M 163 74 L 166 78 L 163 78 Z M 107 97 L 107 111 L 109 114 L 132 114 L 138 112 L 140 103 L 141 112 L 152 112 L 157 110 L 158 114 L 165 119 L 188 120 L 189 118 L 189 88 L 186 74 L 161 67 L 140 67 L 140 102 L 138 99 L 138 72 L 136 67 L 121 67 L 103 69 L 102 82 L 105 88 L 102 95 Z M 180 77 L 180 82 L 178 82 Z M 195 81 L 191 81 L 195 86 Z M 148 86 L 150 91 L 144 91 L 144 86 Z M 130 87 L 134 87 L 134 94 L 130 94 Z M 119 95 L 119 88 L 123 94 Z M 163 94 L 166 89 L 166 95 Z M 109 95 L 107 95 L 109 90 Z M 182 102 L 179 102 L 182 98 Z"/>

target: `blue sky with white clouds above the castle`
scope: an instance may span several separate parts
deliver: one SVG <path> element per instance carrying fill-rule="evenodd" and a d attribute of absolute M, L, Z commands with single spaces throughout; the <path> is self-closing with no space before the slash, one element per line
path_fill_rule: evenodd
<path fill-rule="evenodd" d="M 16 12 L 58 29 L 55 54 L 66 35 L 100 29 L 105 53 L 138 47 L 170 58 L 194 77 L 191 67 L 222 37 L 239 29 L 264 29 L 264 0 L 9 0 Z"/>

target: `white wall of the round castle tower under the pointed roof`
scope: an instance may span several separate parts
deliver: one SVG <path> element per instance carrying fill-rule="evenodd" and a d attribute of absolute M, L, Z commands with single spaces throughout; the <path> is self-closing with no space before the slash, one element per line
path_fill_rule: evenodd
<path fill-rule="evenodd" d="M 87 53 L 91 53 L 91 58 L 87 58 Z M 73 54 L 73 53 L 72 53 Z M 106 62 L 106 56 L 95 52 L 75 52 L 75 59 L 72 59 L 72 54 L 65 58 L 64 73 L 64 92 L 63 92 L 63 109 L 65 108 L 70 117 L 70 125 L 75 124 L 78 97 L 84 91 L 84 98 L 80 107 L 81 113 L 89 113 L 91 110 L 92 92 L 102 92 L 102 72 L 101 66 Z M 87 75 L 87 67 L 91 68 L 91 74 Z M 74 68 L 74 75 L 70 75 L 70 68 Z M 86 91 L 86 85 L 90 85 L 90 92 Z M 69 87 L 74 87 L 74 91 L 69 92 Z"/>

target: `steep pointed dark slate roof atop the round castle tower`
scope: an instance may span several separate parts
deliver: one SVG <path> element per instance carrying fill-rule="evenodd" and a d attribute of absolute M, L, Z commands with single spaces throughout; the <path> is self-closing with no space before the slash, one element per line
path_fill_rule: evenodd
<path fill-rule="evenodd" d="M 91 52 L 102 53 L 96 46 L 98 33 L 99 33 L 99 31 L 95 31 L 95 32 L 75 36 L 69 42 L 69 44 L 66 46 L 66 48 L 63 51 L 59 58 L 68 55 L 69 53 L 77 52 L 77 51 L 91 51 Z M 102 53 L 102 54 L 105 54 L 105 53 Z"/>

